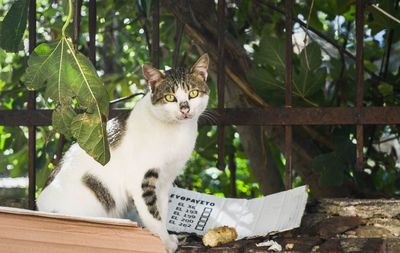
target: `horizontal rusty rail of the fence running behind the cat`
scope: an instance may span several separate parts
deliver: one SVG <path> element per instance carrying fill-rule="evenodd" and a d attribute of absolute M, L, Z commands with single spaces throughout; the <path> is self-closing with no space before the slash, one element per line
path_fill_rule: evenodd
<path fill-rule="evenodd" d="M 110 110 L 113 118 L 128 109 Z M 400 124 L 399 107 L 325 107 L 325 108 L 225 108 L 219 115 L 217 109 L 209 109 L 217 118 L 209 122 L 200 118 L 201 125 L 396 125 Z M 53 110 L 0 110 L 3 126 L 49 126 Z M 220 116 L 220 117 L 219 117 Z"/>

